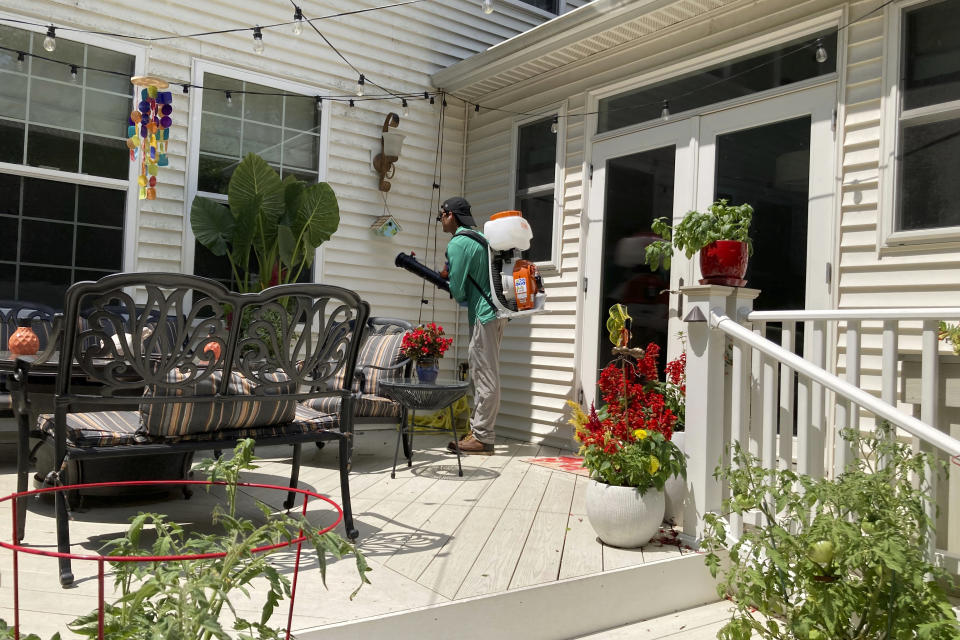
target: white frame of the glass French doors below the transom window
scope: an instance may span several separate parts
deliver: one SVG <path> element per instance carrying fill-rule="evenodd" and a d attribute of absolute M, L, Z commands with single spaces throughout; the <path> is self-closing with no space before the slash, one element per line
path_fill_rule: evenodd
<path fill-rule="evenodd" d="M 836 244 L 836 127 L 837 83 L 830 81 L 813 87 L 789 91 L 773 97 L 725 107 L 708 114 L 691 116 L 659 126 L 604 137 L 591 146 L 590 180 L 587 208 L 582 221 L 582 293 L 581 323 L 578 331 L 579 383 L 585 403 L 596 393 L 599 377 L 597 343 L 600 319 L 595 310 L 600 304 L 602 284 L 603 223 L 605 219 L 606 163 L 611 158 L 669 146 L 677 147 L 674 176 L 674 224 L 691 209 L 703 210 L 713 202 L 716 169 L 716 136 L 803 116 L 811 117 L 807 211 L 807 278 L 805 308 L 829 309 L 833 306 L 834 286 L 828 280 L 828 267 L 835 259 Z M 815 161 L 814 161 L 815 159 Z M 827 231 L 828 233 L 824 233 Z M 811 253 L 812 252 L 812 253 Z M 812 256 L 812 258 L 811 258 Z M 699 278 L 696 260 L 675 255 L 670 270 L 670 306 L 668 335 L 682 328 L 679 287 L 695 284 Z M 682 279 L 682 284 L 681 284 Z M 666 345 L 667 357 L 679 354 L 678 340 Z"/>

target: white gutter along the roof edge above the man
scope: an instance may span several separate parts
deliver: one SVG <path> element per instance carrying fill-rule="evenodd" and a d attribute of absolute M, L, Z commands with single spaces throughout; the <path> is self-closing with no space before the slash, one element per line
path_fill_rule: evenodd
<path fill-rule="evenodd" d="M 553 53 L 672 2 L 673 0 L 593 0 L 504 40 L 486 51 L 441 69 L 431 76 L 431 82 L 433 86 L 447 91 L 459 91 L 518 64 Z"/>

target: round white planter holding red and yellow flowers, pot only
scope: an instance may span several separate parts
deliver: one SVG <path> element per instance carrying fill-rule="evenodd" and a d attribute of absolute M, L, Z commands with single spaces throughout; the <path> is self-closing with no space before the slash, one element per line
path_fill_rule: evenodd
<path fill-rule="evenodd" d="M 656 489 L 640 495 L 634 487 L 613 487 L 591 480 L 586 503 L 593 530 L 614 547 L 629 549 L 646 544 L 663 522 L 663 492 Z"/>

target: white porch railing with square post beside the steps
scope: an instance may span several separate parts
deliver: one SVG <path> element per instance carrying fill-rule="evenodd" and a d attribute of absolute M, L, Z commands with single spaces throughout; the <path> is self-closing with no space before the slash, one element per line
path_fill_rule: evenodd
<path fill-rule="evenodd" d="M 698 286 L 682 293 L 689 323 L 685 437 L 691 491 L 684 533 L 699 538 L 703 514 L 719 510 L 725 487 L 712 473 L 726 460 L 732 440 L 766 468 L 795 465 L 800 473 L 823 477 L 843 470 L 853 455 L 840 429 L 872 417 L 912 435 L 914 446 L 944 459 L 960 456 L 960 409 L 953 408 L 960 407 L 960 393 L 941 375 L 946 354 L 938 341 L 938 322 L 960 319 L 960 308 L 756 312 L 757 290 Z M 772 323 L 779 324 L 779 345 L 764 337 Z M 798 323 L 804 325 L 806 357 L 794 353 Z M 833 363 L 844 378 L 828 370 Z M 863 382 L 874 382 L 879 397 Z M 960 388 L 960 375 L 956 384 Z M 919 404 L 919 419 L 898 408 L 898 401 Z M 947 415 L 951 411 L 956 415 Z M 946 486 L 933 487 L 940 509 L 936 548 L 960 558 L 960 466 L 950 466 Z M 739 535 L 742 523 L 731 524 Z"/>

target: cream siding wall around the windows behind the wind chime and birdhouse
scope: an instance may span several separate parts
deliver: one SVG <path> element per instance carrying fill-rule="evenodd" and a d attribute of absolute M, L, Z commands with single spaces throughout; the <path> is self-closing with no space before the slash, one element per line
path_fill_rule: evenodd
<path fill-rule="evenodd" d="M 301 4 L 309 18 L 343 11 L 346 6 L 333 1 Z M 289 21 L 293 9 L 281 0 L 171 0 L 142 5 L 120 0 L 0 0 L 0 13 L 41 24 L 52 21 L 61 27 L 58 37 L 69 39 L 66 27 L 165 36 Z M 547 18 L 520 2 L 500 2 L 487 16 L 479 0 L 447 0 L 323 20 L 318 27 L 369 81 L 398 92 L 422 92 L 432 89 L 430 76 L 437 70 Z M 112 41 L 119 39 L 104 37 L 101 46 L 109 46 Z M 263 41 L 263 55 L 252 51 L 250 32 L 142 43 L 146 62 L 138 71 L 172 82 L 189 82 L 195 61 L 206 60 L 315 87 L 317 94 L 343 95 L 354 90 L 356 72 L 309 26 L 300 36 L 294 36 L 290 26 L 266 29 Z M 367 87 L 368 94 L 378 92 L 369 83 Z M 188 167 L 195 159 L 188 157 L 187 150 L 191 136 L 199 136 L 199 131 L 190 130 L 188 114 L 197 90 L 184 95 L 174 85 L 173 92 L 170 166 L 160 171 L 157 199 L 140 201 L 127 221 L 134 233 L 128 236 L 132 242 L 126 247 L 125 262 L 138 271 L 178 272 L 190 268 L 193 241 L 185 212 L 192 202 Z M 433 219 L 438 197 L 432 184 L 438 157 L 442 157 L 440 198 L 461 192 L 465 109 L 462 102 L 449 99 L 442 155 L 438 156 L 439 102 L 431 107 L 422 99 L 410 100 L 410 115 L 401 118 L 397 129 L 407 138 L 386 202 L 377 190 L 371 151 L 379 148 L 385 115 L 389 111 L 400 113 L 399 100 L 357 101 L 354 108 L 344 103 L 324 105 L 323 117 L 329 119 L 330 127 L 321 172 L 325 166 L 326 180 L 339 200 L 341 221 L 337 233 L 324 245 L 316 278 L 355 289 L 371 303 L 374 315 L 418 319 L 421 282 L 394 267 L 393 260 L 399 251 L 413 249 L 427 264 L 434 264 L 434 239 L 428 239 L 427 234 L 437 226 Z M 117 123 L 118 135 L 125 132 L 125 127 L 125 122 Z M 403 227 L 391 239 L 376 236 L 369 229 L 377 216 L 387 212 Z M 444 246 L 440 239 L 437 248 L 441 256 Z M 433 305 L 423 306 L 423 313 L 425 318 L 435 317 L 448 326 L 457 320 L 456 307 L 445 294 L 436 298 L 435 309 Z M 465 357 L 462 350 L 461 355 Z M 447 358 L 446 364 L 452 368 L 453 358 Z"/>

